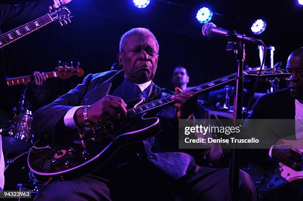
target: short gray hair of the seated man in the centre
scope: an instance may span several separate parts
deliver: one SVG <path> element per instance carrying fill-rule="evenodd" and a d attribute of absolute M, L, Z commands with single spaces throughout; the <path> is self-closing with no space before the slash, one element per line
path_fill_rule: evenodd
<path fill-rule="evenodd" d="M 157 47 L 157 53 L 159 53 L 159 43 L 156 40 L 156 38 L 154 37 L 154 35 L 152 34 L 152 32 L 146 28 L 133 28 L 129 31 L 127 31 L 125 34 L 123 34 L 123 36 L 121 37 L 120 40 L 120 44 L 119 44 L 119 51 L 120 53 L 124 50 L 124 47 L 127 43 L 127 40 L 130 36 L 132 35 L 136 35 L 136 34 L 141 34 L 144 36 L 152 36 L 152 38 L 154 39 L 155 43 L 156 43 L 156 47 Z"/>

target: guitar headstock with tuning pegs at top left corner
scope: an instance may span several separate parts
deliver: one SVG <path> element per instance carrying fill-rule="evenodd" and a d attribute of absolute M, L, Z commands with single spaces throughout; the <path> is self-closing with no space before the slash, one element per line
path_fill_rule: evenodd
<path fill-rule="evenodd" d="M 51 9 L 49 12 L 52 21 L 57 21 L 61 26 L 71 23 L 70 18 L 73 17 L 69 9 L 65 6 Z"/>

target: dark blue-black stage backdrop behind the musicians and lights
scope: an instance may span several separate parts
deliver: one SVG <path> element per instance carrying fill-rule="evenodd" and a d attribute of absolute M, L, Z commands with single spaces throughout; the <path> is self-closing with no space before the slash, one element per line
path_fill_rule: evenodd
<path fill-rule="evenodd" d="M 303 6 L 298 0 L 151 0 L 144 9 L 135 7 L 132 0 L 73 0 L 67 6 L 74 15 L 71 24 L 60 27 L 51 23 L 4 47 L 7 76 L 52 71 L 58 60 L 80 61 L 86 74 L 107 71 L 117 61 L 120 37 L 135 27 L 149 28 L 159 42 L 160 58 L 154 79 L 159 86 L 172 87 L 176 65 L 188 68 L 190 85 L 232 74 L 236 69 L 233 57 L 225 51 L 226 41 L 202 36 L 202 24 L 196 20 L 202 6 L 212 9 L 215 14 L 211 22 L 218 27 L 237 30 L 275 46 L 274 63 L 282 61 L 284 68 L 288 55 L 303 46 Z M 267 28 L 261 35 L 253 35 L 250 28 L 258 18 L 267 22 Z M 17 26 L 6 25 L 2 33 Z M 256 46 L 247 44 L 246 50 L 246 63 L 258 66 Z M 60 87 L 66 91 L 67 86 L 73 87 L 81 80 L 73 77 L 54 84 L 52 89 Z M 15 97 L 20 96 L 20 87 L 13 87 L 12 91 Z"/>

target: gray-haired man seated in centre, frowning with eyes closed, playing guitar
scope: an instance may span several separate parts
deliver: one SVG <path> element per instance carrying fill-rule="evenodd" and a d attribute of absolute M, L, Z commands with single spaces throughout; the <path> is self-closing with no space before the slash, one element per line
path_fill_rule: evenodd
<path fill-rule="evenodd" d="M 131 99 L 150 102 L 168 95 L 152 82 L 158 51 L 158 42 L 148 29 L 126 32 L 118 53 L 123 70 L 90 74 L 75 89 L 38 110 L 33 121 L 35 134 L 49 139 L 70 137 L 69 131 L 77 126 L 125 118 L 126 102 Z M 176 88 L 179 92 L 182 90 Z M 36 200 L 228 200 L 229 170 L 198 166 L 192 155 L 178 149 L 178 119 L 203 118 L 197 97 L 183 92 L 172 98 L 174 107 L 156 113 L 162 127 L 158 135 L 121 148 L 118 165 L 106 171 L 50 183 Z M 196 159 L 205 164 L 222 156 L 221 149 L 199 152 Z M 239 188 L 241 200 L 255 200 L 252 181 L 243 171 Z"/>

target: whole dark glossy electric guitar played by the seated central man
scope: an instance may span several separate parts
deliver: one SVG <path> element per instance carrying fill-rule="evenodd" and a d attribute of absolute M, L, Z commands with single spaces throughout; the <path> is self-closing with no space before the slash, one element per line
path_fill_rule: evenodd
<path fill-rule="evenodd" d="M 244 71 L 243 75 L 266 79 L 290 76 L 282 69 Z M 236 76 L 237 74 L 232 74 L 213 80 L 189 91 L 200 94 L 235 80 Z M 159 133 L 161 131 L 159 119 L 151 117 L 149 113 L 174 103 L 170 95 L 148 103 L 144 103 L 141 98 L 135 99 L 127 103 L 127 115 L 123 121 L 96 124 L 89 132 L 81 129 L 78 140 L 71 139 L 64 143 L 37 141 L 29 151 L 29 168 L 40 178 L 45 177 L 44 181 L 75 178 L 94 171 L 108 161 L 120 147 Z"/>

